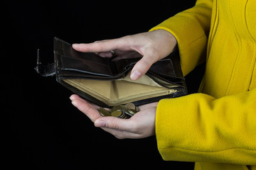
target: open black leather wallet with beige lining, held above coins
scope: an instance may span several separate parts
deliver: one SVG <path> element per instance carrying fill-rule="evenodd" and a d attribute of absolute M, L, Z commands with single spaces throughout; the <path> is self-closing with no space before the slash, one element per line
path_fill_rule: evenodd
<path fill-rule="evenodd" d="M 56 80 L 73 93 L 105 108 L 125 103 L 140 106 L 187 94 L 178 52 L 154 63 L 140 79 L 132 81 L 130 72 L 140 59 L 113 60 L 78 52 L 68 42 L 54 38 L 54 63 L 43 64 L 38 50 L 36 71 L 43 77 L 55 74 Z"/>

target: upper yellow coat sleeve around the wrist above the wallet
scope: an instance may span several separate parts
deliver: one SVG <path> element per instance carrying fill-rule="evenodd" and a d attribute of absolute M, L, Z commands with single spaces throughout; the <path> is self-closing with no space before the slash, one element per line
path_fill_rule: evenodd
<path fill-rule="evenodd" d="M 176 37 L 184 76 L 206 60 L 212 4 L 212 0 L 198 0 L 193 8 L 151 28 L 167 30 Z"/>

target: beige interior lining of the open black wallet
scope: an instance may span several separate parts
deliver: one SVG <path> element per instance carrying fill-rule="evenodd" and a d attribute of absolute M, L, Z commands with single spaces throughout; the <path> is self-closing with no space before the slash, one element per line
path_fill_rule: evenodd
<path fill-rule="evenodd" d="M 112 81 L 92 79 L 63 79 L 63 81 L 103 101 L 108 106 L 116 106 L 146 98 L 164 96 L 165 94 L 173 94 L 177 91 L 176 89 L 171 89 L 176 85 L 165 82 L 164 85 L 170 88 L 168 89 L 157 84 L 146 75 L 137 81 L 132 81 L 129 78 L 129 74 L 124 79 Z"/>

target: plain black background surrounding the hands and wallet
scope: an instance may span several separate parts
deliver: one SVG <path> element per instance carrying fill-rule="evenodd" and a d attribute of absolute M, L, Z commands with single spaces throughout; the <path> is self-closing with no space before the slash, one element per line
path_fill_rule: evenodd
<path fill-rule="evenodd" d="M 193 169 L 165 162 L 156 137 L 118 140 L 95 128 L 70 103 L 72 94 L 55 77 L 40 77 L 36 52 L 53 62 L 53 38 L 93 42 L 141 33 L 195 1 L 4 1 L 1 77 L 4 87 L 6 169 Z M 196 92 L 203 67 L 186 77 Z M 3 103 L 2 103 L 3 104 Z M 3 119 L 2 121 L 5 121 Z"/>

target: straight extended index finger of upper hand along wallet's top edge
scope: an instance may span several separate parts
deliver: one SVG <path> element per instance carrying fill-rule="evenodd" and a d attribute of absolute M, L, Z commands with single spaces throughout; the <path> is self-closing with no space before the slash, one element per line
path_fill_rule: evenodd
<path fill-rule="evenodd" d="M 80 52 L 108 52 L 115 49 L 127 49 L 127 47 L 129 48 L 129 45 L 127 45 L 125 38 L 117 38 L 88 44 L 73 44 L 72 47 Z"/>

